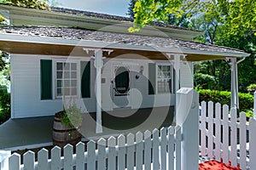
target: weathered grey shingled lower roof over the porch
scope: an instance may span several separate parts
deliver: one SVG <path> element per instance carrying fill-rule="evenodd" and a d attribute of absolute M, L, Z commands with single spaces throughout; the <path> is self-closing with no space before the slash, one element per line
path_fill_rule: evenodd
<path fill-rule="evenodd" d="M 0 34 L 22 35 L 32 37 L 54 37 L 68 40 L 86 40 L 91 42 L 110 42 L 130 44 L 136 46 L 149 46 L 154 48 L 180 48 L 207 52 L 235 53 L 242 51 L 234 48 L 226 48 L 200 42 L 189 42 L 171 37 L 150 37 L 134 34 L 115 33 L 108 31 L 90 31 L 86 29 L 70 27 L 49 26 L 6 26 L 2 27 Z M 1 38 L 0 38 L 1 39 Z"/>

